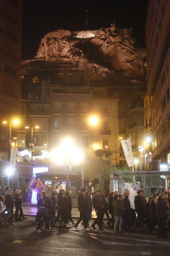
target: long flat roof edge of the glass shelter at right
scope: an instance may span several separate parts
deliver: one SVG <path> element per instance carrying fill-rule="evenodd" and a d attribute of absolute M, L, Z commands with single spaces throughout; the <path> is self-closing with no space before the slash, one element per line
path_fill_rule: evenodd
<path fill-rule="evenodd" d="M 170 171 L 137 171 L 137 172 L 112 172 L 114 176 L 170 176 Z"/>

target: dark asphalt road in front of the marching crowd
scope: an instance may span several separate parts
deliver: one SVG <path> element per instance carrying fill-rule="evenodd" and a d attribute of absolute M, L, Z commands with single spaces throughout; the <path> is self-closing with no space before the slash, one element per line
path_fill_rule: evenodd
<path fill-rule="evenodd" d="M 107 226 L 104 231 L 41 231 L 35 229 L 34 217 L 14 223 L 14 227 L 4 227 L 0 222 L 0 256 L 170 255 L 170 238 L 157 239 L 148 230 L 131 229 L 130 233 L 118 235 Z"/>

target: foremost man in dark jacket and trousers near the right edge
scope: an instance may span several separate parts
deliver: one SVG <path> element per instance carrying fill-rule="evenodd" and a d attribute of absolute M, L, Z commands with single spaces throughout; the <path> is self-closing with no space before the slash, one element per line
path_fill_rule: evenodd
<path fill-rule="evenodd" d="M 165 204 L 165 193 L 161 192 L 157 200 L 156 215 L 158 217 L 158 238 L 166 237 L 166 219 L 168 217 L 167 210 L 169 207 Z"/>

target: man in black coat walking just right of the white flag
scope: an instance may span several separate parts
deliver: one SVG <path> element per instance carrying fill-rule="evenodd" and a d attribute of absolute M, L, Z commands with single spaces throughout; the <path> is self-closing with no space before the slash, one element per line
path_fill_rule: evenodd
<path fill-rule="evenodd" d="M 138 191 L 138 195 L 135 196 L 135 211 L 137 212 L 137 222 L 135 227 L 142 228 L 142 222 L 144 219 L 144 204 L 142 201 L 142 191 Z"/>

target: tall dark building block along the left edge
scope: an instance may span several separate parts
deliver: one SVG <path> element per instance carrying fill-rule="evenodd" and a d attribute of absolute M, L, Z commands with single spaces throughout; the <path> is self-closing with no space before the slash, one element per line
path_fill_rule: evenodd
<path fill-rule="evenodd" d="M 0 1 L 0 159 L 9 158 L 9 122 L 20 115 L 22 1 Z M 8 121 L 2 125 L 3 120 Z"/>

